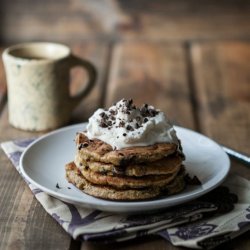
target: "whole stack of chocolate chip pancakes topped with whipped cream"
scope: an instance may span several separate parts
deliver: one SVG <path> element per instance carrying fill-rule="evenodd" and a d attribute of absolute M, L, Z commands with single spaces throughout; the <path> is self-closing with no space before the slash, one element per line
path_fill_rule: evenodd
<path fill-rule="evenodd" d="M 83 192 L 111 200 L 145 200 L 185 187 L 181 142 L 165 114 L 121 100 L 97 109 L 75 137 L 66 177 Z"/>

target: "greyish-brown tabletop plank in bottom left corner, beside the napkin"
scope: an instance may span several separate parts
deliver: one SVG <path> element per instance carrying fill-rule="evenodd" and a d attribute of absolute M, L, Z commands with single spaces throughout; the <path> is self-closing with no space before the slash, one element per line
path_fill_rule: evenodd
<path fill-rule="evenodd" d="M 43 210 L 2 150 L 0 161 L 0 248 L 69 249 L 71 238 Z"/>

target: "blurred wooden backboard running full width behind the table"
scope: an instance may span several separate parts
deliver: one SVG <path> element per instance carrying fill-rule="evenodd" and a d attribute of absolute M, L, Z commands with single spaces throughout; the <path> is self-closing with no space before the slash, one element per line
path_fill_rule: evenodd
<path fill-rule="evenodd" d="M 2 0 L 0 5 L 4 43 L 250 37 L 250 3 L 244 0 Z"/>

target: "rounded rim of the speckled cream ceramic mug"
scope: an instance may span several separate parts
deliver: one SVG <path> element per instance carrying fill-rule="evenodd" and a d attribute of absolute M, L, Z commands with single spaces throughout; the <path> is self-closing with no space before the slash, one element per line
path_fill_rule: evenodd
<path fill-rule="evenodd" d="M 50 49 L 61 49 L 61 50 L 65 50 L 64 53 L 62 53 L 62 55 L 58 55 L 55 56 L 54 58 L 25 58 L 22 56 L 16 56 L 11 54 L 11 52 L 18 50 L 18 49 L 29 49 L 31 47 L 39 47 L 39 46 L 47 46 L 50 47 Z M 8 59 L 12 59 L 12 60 L 18 60 L 19 63 L 27 63 L 27 62 L 32 62 L 32 63 L 49 63 L 49 62 L 56 62 L 56 61 L 60 61 L 66 57 L 68 57 L 71 54 L 71 49 L 67 46 L 64 45 L 62 43 L 54 43 L 54 42 L 25 42 L 25 43 L 19 43 L 19 44 L 15 44 L 12 45 L 8 48 L 6 48 L 3 51 L 2 57 L 3 58 L 8 58 Z"/>

